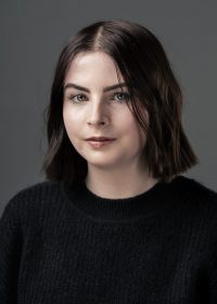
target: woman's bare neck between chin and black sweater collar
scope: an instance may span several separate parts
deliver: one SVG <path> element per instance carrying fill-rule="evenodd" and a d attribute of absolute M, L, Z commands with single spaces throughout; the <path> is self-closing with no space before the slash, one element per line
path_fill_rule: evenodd
<path fill-rule="evenodd" d="M 86 186 L 99 197 L 125 199 L 148 191 L 157 181 L 149 175 L 148 169 L 138 170 L 125 167 L 123 169 L 103 170 L 102 168 L 89 167 Z"/>

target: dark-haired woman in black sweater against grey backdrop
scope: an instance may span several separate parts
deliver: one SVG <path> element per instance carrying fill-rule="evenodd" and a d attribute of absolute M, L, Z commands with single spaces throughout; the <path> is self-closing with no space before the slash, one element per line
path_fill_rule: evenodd
<path fill-rule="evenodd" d="M 217 303 L 217 194 L 197 164 L 164 49 L 125 21 L 63 49 L 47 180 L 0 221 L 1 303 Z"/>

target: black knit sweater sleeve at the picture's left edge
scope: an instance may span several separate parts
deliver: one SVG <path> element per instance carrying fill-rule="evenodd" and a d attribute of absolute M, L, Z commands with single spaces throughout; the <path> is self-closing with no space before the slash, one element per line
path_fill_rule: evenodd
<path fill-rule="evenodd" d="M 22 251 L 22 229 L 16 200 L 4 207 L 0 218 L 0 302 L 17 303 L 18 265 Z"/>

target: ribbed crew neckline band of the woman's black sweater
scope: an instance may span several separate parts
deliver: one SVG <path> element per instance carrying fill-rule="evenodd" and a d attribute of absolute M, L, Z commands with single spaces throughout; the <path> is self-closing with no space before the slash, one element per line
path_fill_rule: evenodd
<path fill-rule="evenodd" d="M 62 182 L 69 207 L 76 207 L 85 217 L 105 221 L 131 221 L 164 208 L 169 203 L 173 188 L 183 180 L 176 176 L 170 182 L 158 181 L 143 193 L 131 198 L 107 199 L 90 191 L 85 181 Z"/>

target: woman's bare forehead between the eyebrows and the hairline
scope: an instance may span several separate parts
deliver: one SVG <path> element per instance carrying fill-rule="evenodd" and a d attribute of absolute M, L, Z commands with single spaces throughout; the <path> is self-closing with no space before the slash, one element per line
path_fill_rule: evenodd
<path fill-rule="evenodd" d="M 86 78 L 99 78 L 101 81 L 124 80 L 122 73 L 117 65 L 115 65 L 113 59 L 104 52 L 80 52 L 68 66 L 65 81 L 71 80 L 85 80 Z"/>

